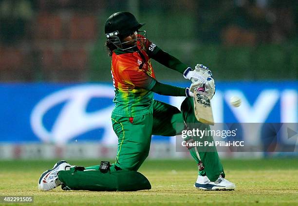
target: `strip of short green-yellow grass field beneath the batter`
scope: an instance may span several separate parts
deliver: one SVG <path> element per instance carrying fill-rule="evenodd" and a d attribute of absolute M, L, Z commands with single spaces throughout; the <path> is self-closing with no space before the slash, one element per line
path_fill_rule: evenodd
<path fill-rule="evenodd" d="M 148 160 L 141 167 L 152 189 L 137 192 L 37 190 L 40 174 L 56 161 L 0 161 L 0 195 L 34 196 L 34 205 L 298 205 L 298 159 L 223 160 L 234 191 L 202 191 L 193 187 L 192 160 Z M 98 161 L 69 161 L 91 166 Z M 13 205 L 13 204 L 6 204 Z M 32 205 L 32 204 L 30 204 Z"/>

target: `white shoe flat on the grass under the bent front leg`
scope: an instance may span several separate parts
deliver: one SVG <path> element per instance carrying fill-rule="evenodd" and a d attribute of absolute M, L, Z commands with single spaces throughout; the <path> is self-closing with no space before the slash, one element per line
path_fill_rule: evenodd
<path fill-rule="evenodd" d="M 198 176 L 196 183 L 193 185 L 197 189 L 204 190 L 234 190 L 236 188 L 234 183 L 219 177 L 216 181 L 211 182 L 207 176 Z"/>

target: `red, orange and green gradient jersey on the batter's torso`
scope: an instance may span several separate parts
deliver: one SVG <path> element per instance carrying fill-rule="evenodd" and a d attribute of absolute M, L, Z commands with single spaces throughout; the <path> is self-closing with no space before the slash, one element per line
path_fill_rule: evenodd
<path fill-rule="evenodd" d="M 143 38 L 142 36 L 139 36 Z M 112 78 L 115 88 L 115 107 L 112 114 L 133 117 L 152 111 L 153 92 L 156 83 L 150 55 L 159 48 L 149 40 L 138 40 L 135 52 L 114 50 L 112 54 Z"/>

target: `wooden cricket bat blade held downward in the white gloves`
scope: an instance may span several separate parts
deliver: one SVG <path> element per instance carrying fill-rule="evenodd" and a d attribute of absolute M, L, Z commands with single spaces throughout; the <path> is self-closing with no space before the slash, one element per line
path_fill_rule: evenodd
<path fill-rule="evenodd" d="M 194 113 L 198 121 L 207 125 L 214 125 L 210 99 L 204 91 L 204 87 L 196 88 L 193 91 Z"/>

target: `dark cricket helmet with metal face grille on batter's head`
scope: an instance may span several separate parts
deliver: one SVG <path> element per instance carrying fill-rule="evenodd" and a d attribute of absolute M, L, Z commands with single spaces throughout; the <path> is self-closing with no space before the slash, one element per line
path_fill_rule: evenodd
<path fill-rule="evenodd" d="M 122 42 L 121 39 L 133 34 L 134 32 L 139 32 L 139 29 L 144 24 L 145 23 L 139 23 L 130 12 L 116 12 L 113 13 L 105 23 L 105 35 L 107 39 L 117 48 L 121 50 L 128 50 L 135 46 L 125 48 L 124 45 L 129 41 Z M 145 31 L 144 33 L 146 35 Z"/>

